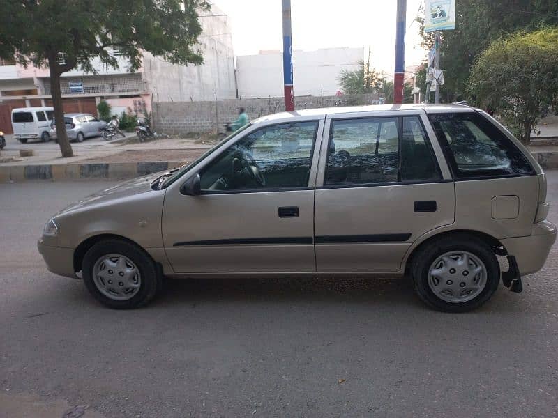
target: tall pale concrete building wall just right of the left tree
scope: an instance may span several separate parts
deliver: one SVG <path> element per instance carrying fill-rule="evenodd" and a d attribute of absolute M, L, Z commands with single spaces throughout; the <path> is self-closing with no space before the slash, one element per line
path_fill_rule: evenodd
<path fill-rule="evenodd" d="M 203 15 L 223 15 L 216 6 Z M 153 102 L 236 98 L 234 53 L 227 16 L 200 17 L 203 65 L 173 65 L 144 54 L 144 79 Z"/>

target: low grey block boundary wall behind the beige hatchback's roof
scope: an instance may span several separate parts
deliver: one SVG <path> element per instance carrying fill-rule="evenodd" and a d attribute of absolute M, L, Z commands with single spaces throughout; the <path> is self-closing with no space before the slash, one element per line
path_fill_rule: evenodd
<path fill-rule="evenodd" d="M 297 96 L 295 109 L 371 104 L 375 94 L 344 96 Z M 218 100 L 210 102 L 153 102 L 153 125 L 159 132 L 186 134 L 188 132 L 223 132 L 223 125 L 237 117 L 244 107 L 250 119 L 285 110 L 282 97 L 266 99 Z"/>

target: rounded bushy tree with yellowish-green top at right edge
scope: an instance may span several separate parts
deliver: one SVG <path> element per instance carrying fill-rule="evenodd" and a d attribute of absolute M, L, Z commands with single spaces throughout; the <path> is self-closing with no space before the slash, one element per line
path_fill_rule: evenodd
<path fill-rule="evenodd" d="M 492 42 L 468 79 L 474 102 L 498 112 L 525 143 L 538 118 L 558 105 L 558 28 Z"/>

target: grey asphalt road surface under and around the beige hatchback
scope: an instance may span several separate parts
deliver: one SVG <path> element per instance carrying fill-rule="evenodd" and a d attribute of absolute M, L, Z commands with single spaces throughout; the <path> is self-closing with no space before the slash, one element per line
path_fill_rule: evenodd
<path fill-rule="evenodd" d="M 52 212 L 110 184 L 0 185 L 0 417 L 558 415 L 558 247 L 469 314 L 401 279 L 172 281 L 112 311 L 36 250 Z M 558 222 L 558 173 L 549 196 Z"/>

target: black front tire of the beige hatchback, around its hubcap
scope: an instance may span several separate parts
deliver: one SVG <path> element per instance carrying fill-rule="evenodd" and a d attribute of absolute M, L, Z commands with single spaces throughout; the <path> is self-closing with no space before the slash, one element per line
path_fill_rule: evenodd
<path fill-rule="evenodd" d="M 93 265 L 107 254 L 121 254 L 129 258 L 140 271 L 142 282 L 140 291 L 128 300 L 112 300 L 103 295 L 93 281 Z M 99 302 L 112 309 L 135 309 L 145 306 L 157 295 L 162 286 L 162 277 L 156 264 L 143 249 L 124 240 L 103 240 L 93 245 L 82 262 L 83 281 L 87 290 Z"/>

